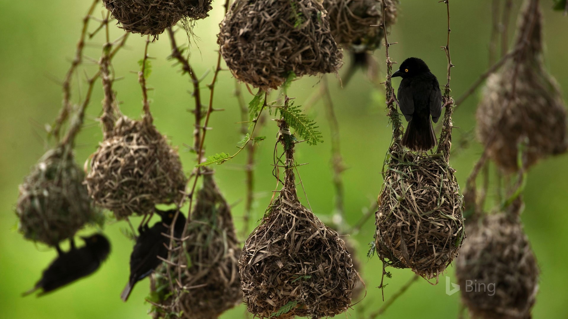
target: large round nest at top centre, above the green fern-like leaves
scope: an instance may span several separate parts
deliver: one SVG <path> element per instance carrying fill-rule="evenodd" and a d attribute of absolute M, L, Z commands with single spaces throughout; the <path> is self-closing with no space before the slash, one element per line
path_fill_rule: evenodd
<path fill-rule="evenodd" d="M 263 90 L 296 76 L 335 73 L 343 54 L 316 0 L 237 0 L 218 43 L 237 79 Z"/>

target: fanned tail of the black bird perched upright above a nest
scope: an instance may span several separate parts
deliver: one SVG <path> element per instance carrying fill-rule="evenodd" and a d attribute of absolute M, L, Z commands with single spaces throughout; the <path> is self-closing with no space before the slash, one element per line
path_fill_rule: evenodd
<path fill-rule="evenodd" d="M 402 145 L 414 151 L 425 151 L 436 146 L 436 134 L 429 116 L 426 118 L 414 116 L 408 122 Z"/>

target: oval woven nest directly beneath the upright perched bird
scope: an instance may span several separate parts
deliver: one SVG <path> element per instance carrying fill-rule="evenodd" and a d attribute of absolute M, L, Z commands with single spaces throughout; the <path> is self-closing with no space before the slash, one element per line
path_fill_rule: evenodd
<path fill-rule="evenodd" d="M 437 279 L 465 237 L 454 169 L 441 154 L 399 154 L 393 149 L 375 216 L 377 253 L 387 266 Z"/>

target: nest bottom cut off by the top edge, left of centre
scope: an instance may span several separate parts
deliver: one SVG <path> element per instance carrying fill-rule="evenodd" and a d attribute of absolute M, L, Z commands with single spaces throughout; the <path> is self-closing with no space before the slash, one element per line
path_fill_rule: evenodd
<path fill-rule="evenodd" d="M 209 16 L 212 0 L 103 0 L 125 31 L 157 36 L 181 19 Z"/>

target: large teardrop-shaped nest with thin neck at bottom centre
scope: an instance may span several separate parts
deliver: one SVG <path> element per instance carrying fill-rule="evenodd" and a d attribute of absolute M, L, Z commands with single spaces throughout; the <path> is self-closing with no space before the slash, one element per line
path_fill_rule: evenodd
<path fill-rule="evenodd" d="M 279 121 L 280 141 L 291 140 Z M 339 234 L 299 203 L 293 142 L 284 187 L 248 237 L 239 260 L 244 302 L 260 318 L 333 317 L 348 310 L 357 272 Z"/>

